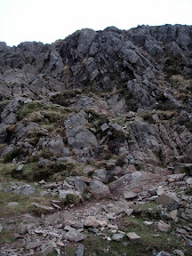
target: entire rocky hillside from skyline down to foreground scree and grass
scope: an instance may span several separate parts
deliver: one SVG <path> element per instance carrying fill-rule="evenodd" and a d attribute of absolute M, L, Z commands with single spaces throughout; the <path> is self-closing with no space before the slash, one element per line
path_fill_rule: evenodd
<path fill-rule="evenodd" d="M 53 44 L 0 43 L 0 100 L 0 255 L 73 255 L 81 240 L 78 256 L 191 255 L 192 26 L 86 28 Z M 45 214 L 54 211 L 57 223 Z M 37 229 L 26 228 L 27 213 Z M 152 226 L 142 229 L 141 220 Z M 168 235 L 160 243 L 161 225 Z M 140 238 L 128 235 L 135 230 Z M 179 245 L 165 246 L 172 235 Z M 99 252 L 92 241 L 100 236 L 107 244 Z"/>

